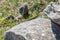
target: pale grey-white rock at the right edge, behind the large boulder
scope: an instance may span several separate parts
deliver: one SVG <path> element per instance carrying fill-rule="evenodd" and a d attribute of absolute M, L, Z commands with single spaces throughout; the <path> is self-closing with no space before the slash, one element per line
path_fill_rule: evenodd
<path fill-rule="evenodd" d="M 60 25 L 60 3 L 51 2 L 45 9 L 44 14 Z"/>

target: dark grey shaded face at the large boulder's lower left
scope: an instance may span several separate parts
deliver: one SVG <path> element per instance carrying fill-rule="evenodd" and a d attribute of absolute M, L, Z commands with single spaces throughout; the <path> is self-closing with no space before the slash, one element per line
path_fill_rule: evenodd
<path fill-rule="evenodd" d="M 7 32 L 5 34 L 4 40 L 26 40 L 26 39 L 21 35 L 16 35 L 14 32 Z"/>

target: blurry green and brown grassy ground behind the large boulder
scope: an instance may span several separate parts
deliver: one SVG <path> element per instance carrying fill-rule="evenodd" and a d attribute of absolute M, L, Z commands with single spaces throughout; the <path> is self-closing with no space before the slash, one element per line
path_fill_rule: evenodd
<path fill-rule="evenodd" d="M 43 9 L 51 1 L 56 2 L 55 0 L 0 0 L 0 40 L 4 40 L 3 34 L 6 30 L 21 23 L 22 21 L 26 21 L 28 19 L 33 19 L 37 15 L 42 16 Z M 27 18 L 27 19 L 23 19 L 23 18 L 21 19 L 18 16 L 19 15 L 18 9 L 25 2 L 28 3 L 28 9 L 29 9 L 30 15 L 29 15 L 29 18 Z M 19 20 L 18 21 L 6 20 L 5 18 L 8 17 L 9 14 L 12 14 L 16 18 L 18 16 Z"/>

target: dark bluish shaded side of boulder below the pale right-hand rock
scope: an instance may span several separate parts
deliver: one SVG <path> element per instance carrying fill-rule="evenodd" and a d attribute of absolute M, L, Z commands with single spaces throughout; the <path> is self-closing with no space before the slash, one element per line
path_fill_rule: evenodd
<path fill-rule="evenodd" d="M 52 31 L 56 40 L 60 40 L 60 25 L 54 23 L 53 21 L 51 21 L 51 25 L 52 25 Z"/>

